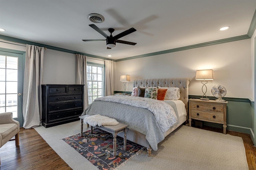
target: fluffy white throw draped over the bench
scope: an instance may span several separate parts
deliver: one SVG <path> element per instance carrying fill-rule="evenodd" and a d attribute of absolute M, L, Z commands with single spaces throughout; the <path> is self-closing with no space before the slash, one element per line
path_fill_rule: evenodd
<path fill-rule="evenodd" d="M 88 117 L 84 118 L 84 123 L 89 124 L 92 127 L 100 127 L 103 125 L 116 126 L 119 124 L 118 121 L 116 121 L 116 119 L 112 119 L 102 115 L 88 115 Z"/>

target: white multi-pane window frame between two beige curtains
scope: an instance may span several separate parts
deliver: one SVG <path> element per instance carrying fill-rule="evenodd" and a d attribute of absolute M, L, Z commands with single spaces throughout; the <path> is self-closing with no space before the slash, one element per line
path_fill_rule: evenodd
<path fill-rule="evenodd" d="M 102 68 L 102 81 L 88 80 L 88 73 L 86 75 L 87 76 L 87 88 L 88 88 L 88 101 L 89 101 L 89 105 L 90 105 L 92 103 L 90 101 L 90 97 L 92 97 L 92 101 L 93 101 L 94 99 L 96 99 L 98 97 L 103 97 L 105 95 L 105 65 L 104 64 L 98 64 L 98 63 L 87 62 L 86 67 L 88 67 L 88 66 L 97 67 L 97 73 L 96 73 L 97 75 L 98 75 L 98 67 Z M 87 72 L 87 70 L 86 70 L 86 72 Z M 92 73 L 92 71 L 91 71 L 91 73 Z M 96 77 L 98 77 L 98 76 L 96 76 Z M 93 95 L 92 90 L 91 90 L 91 93 L 90 93 L 90 89 L 92 89 L 93 87 L 88 87 L 89 82 L 92 82 L 92 84 L 93 84 L 93 82 L 97 82 L 97 84 L 98 84 L 98 82 L 102 82 L 102 88 L 101 88 L 102 89 L 102 95 L 98 94 L 98 89 L 99 89 L 98 87 L 97 87 L 97 95 Z"/>

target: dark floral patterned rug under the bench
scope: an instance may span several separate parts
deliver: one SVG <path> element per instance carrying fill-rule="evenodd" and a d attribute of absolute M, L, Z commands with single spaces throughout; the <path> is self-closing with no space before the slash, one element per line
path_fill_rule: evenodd
<path fill-rule="evenodd" d="M 89 160 L 94 166 L 100 170 L 114 170 L 123 162 L 128 160 L 134 154 L 144 149 L 143 146 L 127 140 L 126 150 L 123 150 L 123 138 L 117 136 L 116 151 L 118 156 L 113 156 L 113 136 L 112 134 L 95 128 L 93 133 L 91 130 L 80 134 L 63 138 L 67 144 Z"/>

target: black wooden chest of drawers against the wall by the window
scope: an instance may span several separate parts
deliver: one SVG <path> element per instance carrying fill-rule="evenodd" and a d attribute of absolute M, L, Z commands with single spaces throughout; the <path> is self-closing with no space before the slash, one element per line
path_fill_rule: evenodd
<path fill-rule="evenodd" d="M 42 85 L 42 125 L 78 121 L 83 113 L 84 85 Z"/>

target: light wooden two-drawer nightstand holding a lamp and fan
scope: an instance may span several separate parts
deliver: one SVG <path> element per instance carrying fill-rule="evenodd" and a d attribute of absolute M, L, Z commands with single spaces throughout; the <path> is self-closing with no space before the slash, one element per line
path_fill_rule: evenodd
<path fill-rule="evenodd" d="M 215 100 L 204 101 L 200 99 L 189 99 L 189 126 L 191 119 L 223 124 L 223 133 L 226 134 L 227 127 L 227 101 Z"/>

